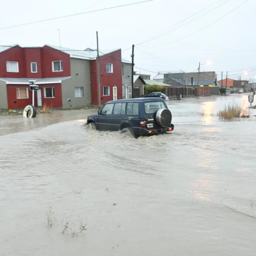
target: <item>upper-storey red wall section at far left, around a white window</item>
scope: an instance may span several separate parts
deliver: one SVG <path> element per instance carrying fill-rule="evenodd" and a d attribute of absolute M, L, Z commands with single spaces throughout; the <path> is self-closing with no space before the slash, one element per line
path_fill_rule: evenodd
<path fill-rule="evenodd" d="M 18 78 L 18 77 L 26 77 L 26 60 L 24 58 L 23 48 L 19 46 L 12 47 L 4 52 L 0 53 L 0 77 L 10 77 L 10 78 Z M 7 61 L 15 61 L 19 63 L 19 72 L 12 73 L 7 72 L 6 70 L 6 62 Z"/>

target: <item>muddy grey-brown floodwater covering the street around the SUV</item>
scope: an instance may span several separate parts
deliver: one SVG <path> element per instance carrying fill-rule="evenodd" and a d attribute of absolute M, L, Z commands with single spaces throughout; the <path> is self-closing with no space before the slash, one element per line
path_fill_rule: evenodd
<path fill-rule="evenodd" d="M 174 132 L 139 139 L 0 116 L 0 255 L 255 256 L 256 110 L 219 120 L 231 101 L 169 101 Z"/>

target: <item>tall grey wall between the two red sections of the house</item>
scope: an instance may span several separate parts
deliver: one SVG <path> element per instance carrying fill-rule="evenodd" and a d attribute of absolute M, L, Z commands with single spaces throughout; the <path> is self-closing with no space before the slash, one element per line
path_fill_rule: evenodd
<path fill-rule="evenodd" d="M 91 104 L 90 61 L 70 58 L 71 78 L 62 81 L 63 108 Z M 76 75 L 78 73 L 78 75 Z M 75 87 L 83 87 L 84 97 L 75 97 Z M 68 102 L 71 99 L 71 102 Z"/>

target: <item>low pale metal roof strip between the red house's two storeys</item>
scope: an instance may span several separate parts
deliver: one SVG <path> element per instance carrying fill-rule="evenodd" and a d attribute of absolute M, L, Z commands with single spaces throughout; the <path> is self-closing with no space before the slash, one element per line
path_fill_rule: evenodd
<path fill-rule="evenodd" d="M 56 84 L 68 78 L 70 78 L 70 76 L 51 78 L 0 78 L 0 80 L 6 82 L 6 84 L 29 84 L 30 80 L 36 80 L 37 84 Z"/>

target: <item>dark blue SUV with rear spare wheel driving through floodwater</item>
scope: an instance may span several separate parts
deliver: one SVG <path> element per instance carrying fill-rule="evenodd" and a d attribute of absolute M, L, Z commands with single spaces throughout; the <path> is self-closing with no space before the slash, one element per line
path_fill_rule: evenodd
<path fill-rule="evenodd" d="M 172 113 L 162 98 L 134 98 L 105 103 L 98 114 L 87 117 L 87 126 L 138 137 L 172 131 L 171 121 Z"/>

